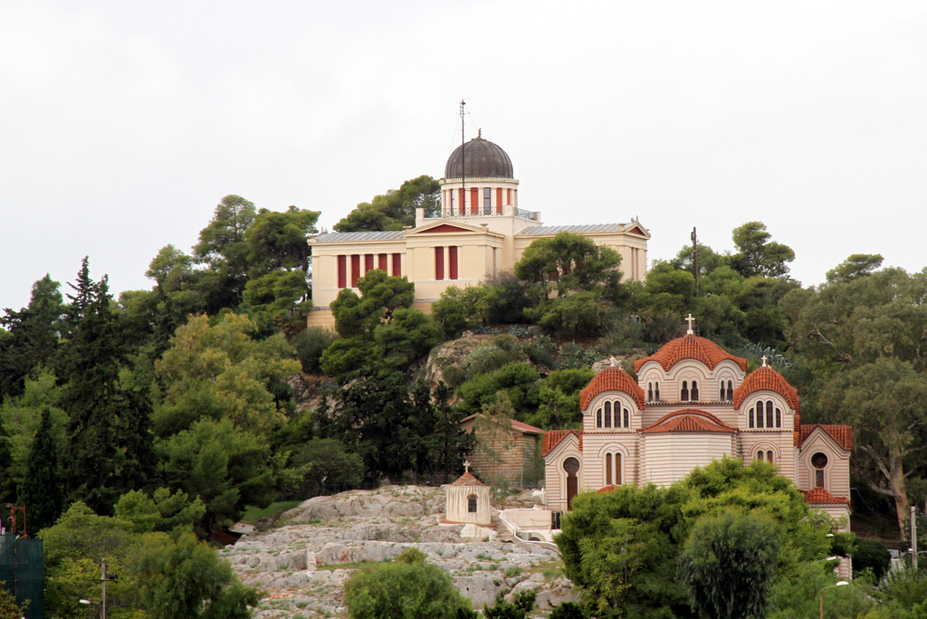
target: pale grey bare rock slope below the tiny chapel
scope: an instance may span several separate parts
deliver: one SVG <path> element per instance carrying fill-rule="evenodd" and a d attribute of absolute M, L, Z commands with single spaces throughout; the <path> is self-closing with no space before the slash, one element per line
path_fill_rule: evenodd
<path fill-rule="evenodd" d="M 342 590 L 358 563 L 392 560 L 407 548 L 447 570 L 476 608 L 523 589 L 537 591 L 539 610 L 576 600 L 555 550 L 464 541 L 464 525 L 440 524 L 443 512 L 444 490 L 435 487 L 315 497 L 283 514 L 275 528 L 226 547 L 222 556 L 242 582 L 265 592 L 255 613 L 260 619 L 347 617 Z"/>

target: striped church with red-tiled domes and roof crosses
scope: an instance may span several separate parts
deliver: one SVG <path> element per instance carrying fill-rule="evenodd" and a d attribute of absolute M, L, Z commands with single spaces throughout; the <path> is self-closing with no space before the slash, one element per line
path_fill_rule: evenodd
<path fill-rule="evenodd" d="M 578 492 L 622 484 L 669 486 L 725 456 L 772 462 L 807 503 L 849 530 L 848 425 L 801 423 L 798 393 L 766 365 L 686 335 L 634 363 L 614 364 L 580 393 L 582 429 L 543 436 L 545 499 L 555 525 Z"/>

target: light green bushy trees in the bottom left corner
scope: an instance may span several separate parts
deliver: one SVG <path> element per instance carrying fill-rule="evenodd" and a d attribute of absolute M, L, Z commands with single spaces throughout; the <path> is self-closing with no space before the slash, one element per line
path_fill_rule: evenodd
<path fill-rule="evenodd" d="M 197 499 L 198 500 L 198 499 Z M 116 517 L 74 503 L 42 537 L 47 616 L 85 616 L 78 600 L 99 600 L 99 559 L 107 573 L 107 612 L 143 616 L 245 619 L 258 601 L 215 549 L 190 532 L 202 504 L 165 490 L 123 496 Z"/>

